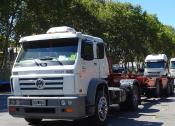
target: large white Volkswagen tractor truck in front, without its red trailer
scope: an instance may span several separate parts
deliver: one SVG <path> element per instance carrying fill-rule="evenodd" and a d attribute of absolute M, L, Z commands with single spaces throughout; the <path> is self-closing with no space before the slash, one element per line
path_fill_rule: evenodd
<path fill-rule="evenodd" d="M 12 116 L 31 124 L 84 117 L 102 124 L 111 106 L 138 108 L 138 81 L 110 73 L 101 38 L 65 26 L 19 42 L 11 75 L 13 96 L 8 98 Z"/>

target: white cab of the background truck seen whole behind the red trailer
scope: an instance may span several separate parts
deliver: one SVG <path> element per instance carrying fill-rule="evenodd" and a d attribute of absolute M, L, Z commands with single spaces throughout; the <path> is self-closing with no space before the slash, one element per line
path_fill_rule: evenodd
<path fill-rule="evenodd" d="M 165 54 L 151 54 L 145 58 L 145 76 L 167 76 L 168 64 Z"/>

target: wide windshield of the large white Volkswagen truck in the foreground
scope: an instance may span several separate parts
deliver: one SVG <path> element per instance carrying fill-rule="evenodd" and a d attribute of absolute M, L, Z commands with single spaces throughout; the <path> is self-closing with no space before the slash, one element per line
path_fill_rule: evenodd
<path fill-rule="evenodd" d="M 77 57 L 77 38 L 24 42 L 17 59 L 18 64 L 73 65 Z"/>

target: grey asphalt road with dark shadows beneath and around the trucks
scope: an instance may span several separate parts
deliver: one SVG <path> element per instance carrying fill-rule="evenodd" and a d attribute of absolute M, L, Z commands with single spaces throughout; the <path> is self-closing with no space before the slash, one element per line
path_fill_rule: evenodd
<path fill-rule="evenodd" d="M 22 118 L 14 118 L 7 112 L 7 95 L 0 95 L 0 126 L 29 126 Z M 87 120 L 76 122 L 43 120 L 37 126 L 88 126 Z M 175 126 L 175 96 L 169 98 L 142 99 L 136 112 L 112 109 L 106 126 Z"/>

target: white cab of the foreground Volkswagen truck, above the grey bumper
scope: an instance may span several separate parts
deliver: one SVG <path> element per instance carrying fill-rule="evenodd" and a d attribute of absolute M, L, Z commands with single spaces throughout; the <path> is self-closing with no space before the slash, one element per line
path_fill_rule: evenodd
<path fill-rule="evenodd" d="M 11 77 L 15 95 L 85 96 L 91 78 L 107 78 L 103 40 L 67 29 L 20 40 Z"/>

